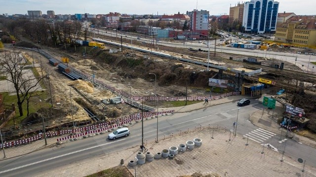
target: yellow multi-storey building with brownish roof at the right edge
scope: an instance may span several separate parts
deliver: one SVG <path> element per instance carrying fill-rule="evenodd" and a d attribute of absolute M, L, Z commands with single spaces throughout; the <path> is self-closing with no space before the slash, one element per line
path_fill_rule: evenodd
<path fill-rule="evenodd" d="M 276 28 L 275 41 L 316 46 L 315 16 L 293 16 Z"/>

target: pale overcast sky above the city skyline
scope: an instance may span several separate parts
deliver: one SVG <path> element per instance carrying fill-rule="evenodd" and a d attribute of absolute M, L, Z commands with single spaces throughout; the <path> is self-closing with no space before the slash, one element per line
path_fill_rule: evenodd
<path fill-rule="evenodd" d="M 316 15 L 316 0 L 275 1 L 279 2 L 279 13 L 286 11 L 296 15 Z M 229 7 L 237 3 L 237 0 L 0 0 L 0 14 L 27 14 L 28 10 L 41 10 L 42 14 L 46 14 L 47 10 L 53 10 L 55 14 L 119 12 L 170 15 L 202 9 L 208 10 L 210 15 L 229 15 Z"/>

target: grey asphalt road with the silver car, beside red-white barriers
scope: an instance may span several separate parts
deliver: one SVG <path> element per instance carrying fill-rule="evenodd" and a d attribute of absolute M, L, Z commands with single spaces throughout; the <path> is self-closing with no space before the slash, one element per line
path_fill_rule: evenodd
<path fill-rule="evenodd" d="M 201 103 L 202 104 L 202 103 Z M 243 106 L 238 110 L 236 103 L 227 103 L 223 105 L 211 106 L 185 113 L 175 113 L 173 115 L 161 116 L 158 118 L 158 138 L 170 136 L 172 132 L 177 134 L 192 131 L 200 126 L 222 126 L 228 130 L 233 130 L 233 122 L 238 124 L 237 135 L 242 136 L 258 127 L 254 126 L 248 120 L 249 115 L 260 110 L 262 105 L 258 101 L 252 101 L 251 105 Z M 68 142 L 61 145 L 54 145 L 27 155 L 0 161 L 0 176 L 32 176 L 40 174 L 48 169 L 54 169 L 63 165 L 79 162 L 82 159 L 91 158 L 101 154 L 111 154 L 129 147 L 139 146 L 141 144 L 141 123 L 129 127 L 131 134 L 129 137 L 109 141 L 108 134 L 103 134 L 75 142 Z M 157 136 L 157 119 L 144 121 L 144 141 L 154 142 Z M 284 134 L 283 134 L 284 135 Z M 233 134 L 231 135 L 233 138 Z M 284 137 L 283 137 L 284 138 Z M 229 139 L 229 137 L 227 137 Z M 279 143 L 280 137 L 275 136 L 265 143 L 271 143 L 278 149 L 284 148 L 283 143 Z M 292 158 L 300 157 L 308 159 L 310 165 L 316 164 L 316 150 L 304 144 L 287 141 L 285 155 Z M 313 164 L 314 163 L 314 164 Z"/>

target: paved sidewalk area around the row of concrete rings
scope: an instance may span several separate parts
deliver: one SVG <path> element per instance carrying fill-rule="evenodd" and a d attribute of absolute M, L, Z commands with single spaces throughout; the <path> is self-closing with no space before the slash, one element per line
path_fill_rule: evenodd
<path fill-rule="evenodd" d="M 174 135 L 158 143 L 147 145 L 148 152 L 156 154 L 170 146 L 178 146 L 195 138 L 202 140 L 200 147 L 193 150 L 180 152 L 173 160 L 155 159 L 144 165 L 136 166 L 137 177 L 176 177 L 180 175 L 192 175 L 195 172 L 201 174 L 216 173 L 221 177 L 316 177 L 316 168 L 296 162 L 284 156 L 280 162 L 281 153 L 262 147 L 256 142 L 248 142 L 241 136 L 234 137 L 224 129 L 204 128 L 181 135 Z M 139 147 L 129 148 L 114 154 L 105 154 L 98 157 L 83 159 L 74 164 L 62 166 L 35 177 L 84 177 L 101 170 L 120 165 L 120 159 L 124 159 L 124 166 L 131 174 L 135 174 L 134 167 L 128 167 L 130 160 L 134 160 Z M 264 151 L 264 153 L 262 153 Z"/>

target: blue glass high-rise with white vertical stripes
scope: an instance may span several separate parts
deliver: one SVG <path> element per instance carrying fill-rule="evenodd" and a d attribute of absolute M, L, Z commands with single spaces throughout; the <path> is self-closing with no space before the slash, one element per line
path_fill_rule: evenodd
<path fill-rule="evenodd" d="M 278 2 L 251 0 L 245 2 L 242 26 L 246 33 L 271 33 L 276 31 Z"/>

